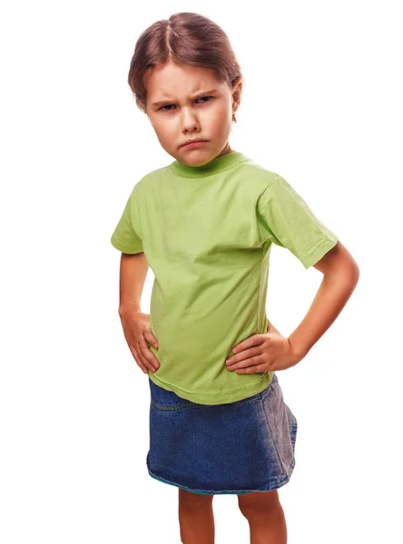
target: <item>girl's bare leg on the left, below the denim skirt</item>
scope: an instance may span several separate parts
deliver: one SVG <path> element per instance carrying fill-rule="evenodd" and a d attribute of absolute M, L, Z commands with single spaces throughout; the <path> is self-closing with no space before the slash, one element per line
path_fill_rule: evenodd
<path fill-rule="evenodd" d="M 182 544 L 214 544 L 213 495 L 178 489 Z"/>

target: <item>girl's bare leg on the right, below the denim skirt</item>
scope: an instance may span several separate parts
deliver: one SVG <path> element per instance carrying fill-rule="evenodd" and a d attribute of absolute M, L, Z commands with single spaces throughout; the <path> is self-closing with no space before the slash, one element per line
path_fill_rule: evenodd
<path fill-rule="evenodd" d="M 251 544 L 287 544 L 287 525 L 277 490 L 238 495 L 238 504 L 249 522 Z"/>

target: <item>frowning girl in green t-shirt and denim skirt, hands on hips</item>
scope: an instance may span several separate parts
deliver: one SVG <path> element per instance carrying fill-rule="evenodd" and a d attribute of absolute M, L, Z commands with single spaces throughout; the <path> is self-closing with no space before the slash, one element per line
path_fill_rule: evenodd
<path fill-rule="evenodd" d="M 286 180 L 231 149 L 242 75 L 220 26 L 193 13 L 152 24 L 129 84 L 174 159 L 135 184 L 111 238 L 123 333 L 150 385 L 148 471 L 179 488 L 184 544 L 214 541 L 212 499 L 225 493 L 238 495 L 253 544 L 283 544 L 278 489 L 295 465 L 297 420 L 276 371 L 334 322 L 359 267 Z M 272 244 L 323 273 L 288 337 L 266 316 Z"/>

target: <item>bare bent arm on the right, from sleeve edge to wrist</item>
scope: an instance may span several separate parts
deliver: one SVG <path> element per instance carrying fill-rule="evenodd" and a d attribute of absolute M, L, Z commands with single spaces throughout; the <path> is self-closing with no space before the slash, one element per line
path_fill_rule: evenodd
<path fill-rule="evenodd" d="M 359 266 L 339 241 L 313 266 L 323 274 L 322 282 L 307 315 L 289 336 L 301 358 L 339 316 L 359 281 Z"/>

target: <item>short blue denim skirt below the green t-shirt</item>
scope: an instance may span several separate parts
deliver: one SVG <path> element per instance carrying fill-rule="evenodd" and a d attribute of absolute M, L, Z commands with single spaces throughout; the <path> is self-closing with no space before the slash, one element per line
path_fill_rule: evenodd
<path fill-rule="evenodd" d="M 272 491 L 290 481 L 297 420 L 272 374 L 261 393 L 200 404 L 149 378 L 152 478 L 198 494 Z"/>

